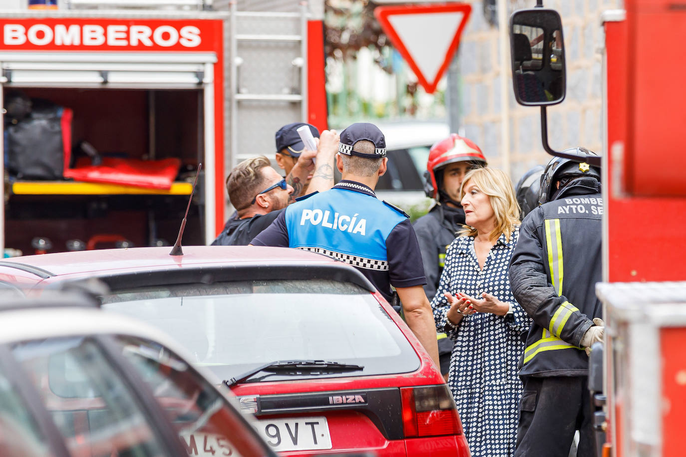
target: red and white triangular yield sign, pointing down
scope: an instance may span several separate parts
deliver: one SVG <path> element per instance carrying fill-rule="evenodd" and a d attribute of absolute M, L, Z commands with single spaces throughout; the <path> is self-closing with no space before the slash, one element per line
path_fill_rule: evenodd
<path fill-rule="evenodd" d="M 374 15 L 428 93 L 434 92 L 471 14 L 466 3 L 379 6 Z"/>

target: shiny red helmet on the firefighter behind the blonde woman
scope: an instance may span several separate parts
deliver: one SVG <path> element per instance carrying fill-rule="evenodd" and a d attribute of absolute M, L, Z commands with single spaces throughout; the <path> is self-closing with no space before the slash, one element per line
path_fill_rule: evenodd
<path fill-rule="evenodd" d="M 436 171 L 453 162 L 480 162 L 486 166 L 486 158 L 481 149 L 472 140 L 458 134 L 450 134 L 445 140 L 440 140 L 429 150 L 429 161 L 425 172 L 426 185 L 424 191 L 429 198 L 438 198 L 438 184 Z"/>

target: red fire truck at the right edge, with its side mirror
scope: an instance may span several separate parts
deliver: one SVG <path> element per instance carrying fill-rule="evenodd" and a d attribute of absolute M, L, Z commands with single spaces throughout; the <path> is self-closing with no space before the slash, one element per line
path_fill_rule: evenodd
<path fill-rule="evenodd" d="M 676 457 L 686 424 L 686 90 L 676 51 L 686 40 L 686 3 L 625 0 L 624 7 L 602 16 L 604 282 L 596 293 L 606 338 L 600 360 L 591 355 L 589 385 L 599 454 Z M 545 122 L 545 106 L 565 97 L 560 18 L 543 8 L 525 15 L 536 18 L 524 21 L 528 27 L 510 22 L 515 92 L 520 103 L 541 106 L 544 147 L 560 156 L 547 145 Z M 550 49 L 518 58 L 516 33 L 531 43 L 547 34 Z M 543 77 L 536 51 L 549 58 Z M 532 77 L 547 91 L 525 90 Z"/>

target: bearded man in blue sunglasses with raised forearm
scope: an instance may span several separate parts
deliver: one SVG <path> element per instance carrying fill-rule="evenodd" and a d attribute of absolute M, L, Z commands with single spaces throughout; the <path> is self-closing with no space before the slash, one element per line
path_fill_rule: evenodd
<path fill-rule="evenodd" d="M 333 173 L 328 171 L 333 167 L 337 147 L 338 134 L 335 130 L 324 130 L 317 151 L 306 151 L 318 159 L 314 172 L 316 178 L 312 178 L 313 191 L 327 190 L 333 186 Z M 326 176 L 322 178 L 327 174 L 331 174 L 331 179 Z M 236 217 L 226 223 L 212 245 L 240 246 L 250 243 L 294 201 L 294 188 L 287 179 L 281 177 L 264 156 L 244 160 L 235 166 L 226 178 L 226 190 L 228 199 L 236 208 Z"/>

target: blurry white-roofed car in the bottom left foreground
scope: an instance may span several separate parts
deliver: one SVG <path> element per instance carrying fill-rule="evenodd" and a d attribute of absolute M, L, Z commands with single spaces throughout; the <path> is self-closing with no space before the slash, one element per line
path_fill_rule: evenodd
<path fill-rule="evenodd" d="M 274 455 L 163 332 L 80 296 L 4 286 L 0 456 Z"/>

